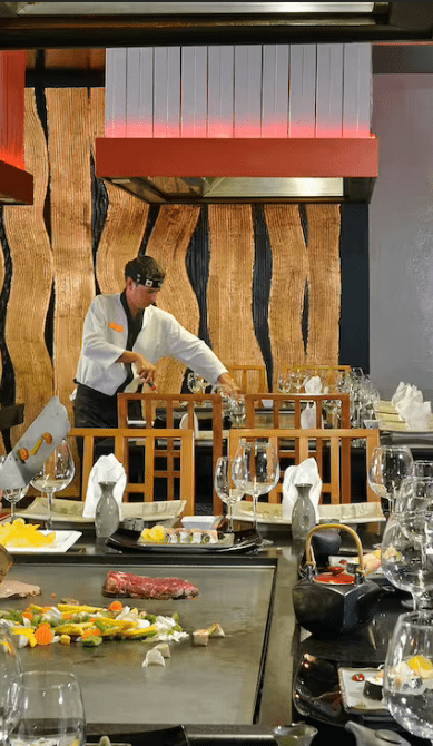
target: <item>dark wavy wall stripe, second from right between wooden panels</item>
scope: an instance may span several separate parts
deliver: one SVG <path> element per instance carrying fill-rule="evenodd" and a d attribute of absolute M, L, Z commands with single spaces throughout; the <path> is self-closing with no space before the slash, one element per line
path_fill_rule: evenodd
<path fill-rule="evenodd" d="M 272 391 L 274 363 L 269 336 L 268 310 L 273 272 L 273 256 L 263 205 L 253 205 L 253 323 L 254 332 L 266 365 L 268 389 Z"/>

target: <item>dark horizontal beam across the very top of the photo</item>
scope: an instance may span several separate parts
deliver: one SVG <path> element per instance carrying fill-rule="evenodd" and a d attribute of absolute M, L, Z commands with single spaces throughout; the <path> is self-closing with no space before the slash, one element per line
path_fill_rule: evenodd
<path fill-rule="evenodd" d="M 45 3 L 0 4 L 43 6 Z M 81 3 L 77 3 L 79 4 Z M 115 7 L 118 3 L 112 4 Z M 56 14 L 56 12 L 40 16 L 17 12 L 0 18 L 0 48 L 417 41 L 431 40 L 433 32 L 432 2 L 378 2 L 374 3 L 373 12 L 367 17 L 338 12 L 315 16 L 277 11 L 248 14 L 242 12 L 242 3 L 233 4 L 239 9 L 237 12 L 190 16 L 180 11 L 177 14 L 134 16 Z"/>

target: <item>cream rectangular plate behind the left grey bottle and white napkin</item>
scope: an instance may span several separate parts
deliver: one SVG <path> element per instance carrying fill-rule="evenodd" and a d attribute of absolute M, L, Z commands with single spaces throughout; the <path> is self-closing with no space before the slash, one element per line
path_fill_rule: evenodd
<path fill-rule="evenodd" d="M 161 500 L 156 502 L 124 502 L 121 505 L 122 519 L 144 518 L 147 521 L 179 518 L 185 510 L 186 500 Z M 83 518 L 85 503 L 81 500 L 65 500 L 55 498 L 52 501 L 52 521 L 61 523 L 94 524 L 92 518 Z M 36 498 L 24 510 L 17 508 L 17 517 L 37 521 L 47 519 L 47 498 Z"/>

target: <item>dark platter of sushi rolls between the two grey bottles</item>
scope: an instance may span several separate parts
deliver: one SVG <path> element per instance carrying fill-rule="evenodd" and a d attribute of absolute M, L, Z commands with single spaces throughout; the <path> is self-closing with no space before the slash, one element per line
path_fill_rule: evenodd
<path fill-rule="evenodd" d="M 163 552 L 169 554 L 208 554 L 209 552 L 232 553 L 254 550 L 260 541 L 258 533 L 254 529 L 235 531 L 234 533 L 224 533 L 223 531 L 204 531 L 203 533 L 205 537 L 201 537 L 200 541 L 147 541 L 142 539 L 141 531 L 119 527 L 119 529 L 107 539 L 107 543 L 109 547 L 126 551 Z M 209 538 L 207 534 L 209 533 L 211 534 L 211 540 L 207 540 Z"/>

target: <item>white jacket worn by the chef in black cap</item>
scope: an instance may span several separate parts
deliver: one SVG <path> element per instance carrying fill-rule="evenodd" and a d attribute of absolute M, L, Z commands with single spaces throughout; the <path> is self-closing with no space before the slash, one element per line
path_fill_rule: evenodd
<path fill-rule="evenodd" d="M 120 293 L 97 295 L 85 318 L 76 381 L 112 396 L 127 377 L 125 365 L 116 363 L 126 350 L 127 338 L 128 318 Z M 206 342 L 184 328 L 170 313 L 156 306 L 145 308 L 142 327 L 132 350 L 154 365 L 161 357 L 176 357 L 211 384 L 222 373 L 227 373 Z M 136 391 L 138 383 L 136 377 L 126 391 Z"/>

